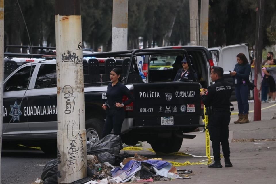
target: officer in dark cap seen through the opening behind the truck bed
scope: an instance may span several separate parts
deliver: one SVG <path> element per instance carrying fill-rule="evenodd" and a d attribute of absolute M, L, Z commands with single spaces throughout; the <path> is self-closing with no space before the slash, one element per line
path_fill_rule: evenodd
<path fill-rule="evenodd" d="M 176 74 L 175 79 L 173 81 L 192 81 L 193 80 L 192 75 L 194 75 L 194 77 L 197 80 L 198 75 L 196 74 L 195 71 L 190 71 L 189 70 L 189 66 L 188 66 L 186 58 L 184 58 L 181 61 L 181 64 L 182 64 L 183 68 L 180 68 L 177 71 L 177 74 Z"/>

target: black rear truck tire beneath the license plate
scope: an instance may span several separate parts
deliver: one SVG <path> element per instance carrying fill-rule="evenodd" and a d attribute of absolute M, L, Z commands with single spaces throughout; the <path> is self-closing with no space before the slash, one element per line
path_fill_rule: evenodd
<path fill-rule="evenodd" d="M 170 139 L 158 139 L 150 145 L 156 153 L 174 153 L 179 151 L 182 145 L 182 141 L 182 138 L 173 137 Z"/>

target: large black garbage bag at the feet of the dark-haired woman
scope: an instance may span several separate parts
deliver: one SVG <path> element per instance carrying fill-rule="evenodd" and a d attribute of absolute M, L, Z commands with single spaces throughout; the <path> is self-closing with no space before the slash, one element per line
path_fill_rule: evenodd
<path fill-rule="evenodd" d="M 95 144 L 87 143 L 86 149 L 88 155 L 98 155 L 108 152 L 116 156 L 123 149 L 123 146 L 120 135 L 109 134 Z"/>

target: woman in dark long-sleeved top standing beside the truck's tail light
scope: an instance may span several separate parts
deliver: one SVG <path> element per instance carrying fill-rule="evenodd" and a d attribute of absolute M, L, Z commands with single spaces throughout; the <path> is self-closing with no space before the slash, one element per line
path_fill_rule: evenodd
<path fill-rule="evenodd" d="M 120 135 L 122 123 L 124 121 L 124 106 L 133 101 L 129 89 L 119 82 L 120 69 L 114 68 L 110 72 L 111 83 L 107 86 L 106 97 L 107 101 L 102 108 L 106 110 L 106 122 L 104 124 L 103 137 L 110 134 L 113 129 L 114 135 Z M 122 103 L 123 95 L 128 97 L 128 100 Z"/>

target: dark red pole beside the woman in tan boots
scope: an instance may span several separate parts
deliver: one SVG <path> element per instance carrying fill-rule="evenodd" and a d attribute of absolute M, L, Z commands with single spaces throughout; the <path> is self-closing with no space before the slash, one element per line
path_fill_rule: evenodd
<path fill-rule="evenodd" d="M 254 88 L 254 121 L 261 120 L 261 84 L 262 84 L 262 43 L 263 43 L 263 20 L 265 0 L 258 0 L 256 7 L 256 35 L 255 35 L 255 85 Z"/>

